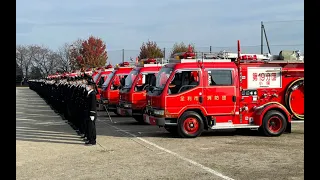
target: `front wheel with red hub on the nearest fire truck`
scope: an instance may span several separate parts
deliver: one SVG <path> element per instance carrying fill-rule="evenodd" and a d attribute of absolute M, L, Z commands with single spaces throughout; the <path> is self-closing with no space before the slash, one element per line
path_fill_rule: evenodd
<path fill-rule="evenodd" d="M 204 124 L 198 113 L 187 111 L 179 118 L 177 128 L 180 137 L 195 138 L 202 133 Z"/>

